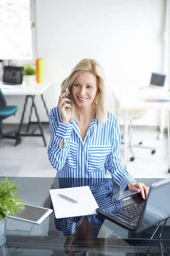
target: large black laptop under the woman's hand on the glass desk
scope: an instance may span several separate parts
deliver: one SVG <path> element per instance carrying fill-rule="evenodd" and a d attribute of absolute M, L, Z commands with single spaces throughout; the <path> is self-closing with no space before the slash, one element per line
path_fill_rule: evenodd
<path fill-rule="evenodd" d="M 154 224 L 170 218 L 170 179 L 153 183 L 146 200 L 136 193 L 122 198 L 109 208 L 96 212 L 109 221 L 139 233 Z"/>

